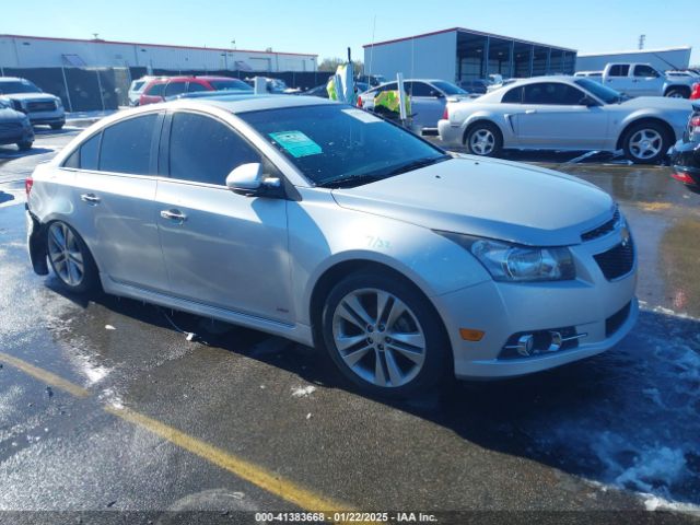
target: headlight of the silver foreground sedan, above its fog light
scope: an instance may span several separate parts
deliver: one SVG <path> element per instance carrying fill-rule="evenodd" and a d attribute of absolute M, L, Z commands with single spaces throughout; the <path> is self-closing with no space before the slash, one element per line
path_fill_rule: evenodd
<path fill-rule="evenodd" d="M 576 277 L 569 248 L 539 248 L 458 233 L 436 233 L 470 252 L 497 281 L 567 281 Z"/>

